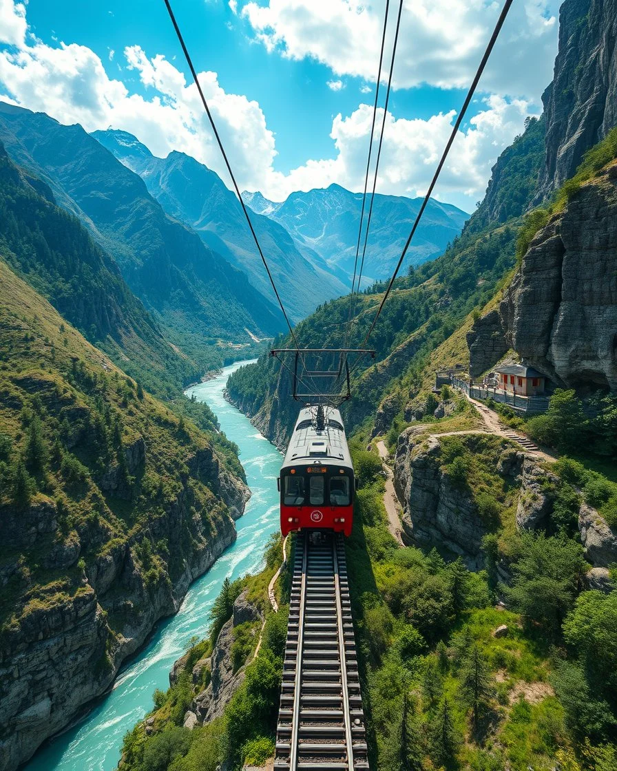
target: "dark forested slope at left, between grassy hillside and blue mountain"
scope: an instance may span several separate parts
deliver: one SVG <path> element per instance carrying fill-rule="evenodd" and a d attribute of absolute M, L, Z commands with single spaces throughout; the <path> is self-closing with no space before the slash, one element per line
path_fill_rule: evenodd
<path fill-rule="evenodd" d="M 109 255 L 55 205 L 45 183 L 15 167 L 2 143 L 0 255 L 150 392 L 175 395 L 201 375 L 196 362 L 165 340 Z"/>

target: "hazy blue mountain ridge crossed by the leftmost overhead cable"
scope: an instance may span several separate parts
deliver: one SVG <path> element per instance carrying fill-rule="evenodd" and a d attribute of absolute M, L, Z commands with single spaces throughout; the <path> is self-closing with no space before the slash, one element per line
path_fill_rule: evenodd
<path fill-rule="evenodd" d="M 271 285 L 241 206 L 217 173 L 185 153 L 154 157 L 125 131 L 95 131 L 92 136 L 143 178 L 167 214 L 192 227 L 205 244 L 241 268 L 263 295 L 271 296 Z M 345 293 L 346 287 L 317 254 L 310 254 L 308 259 L 300 254 L 284 227 L 255 214 L 251 221 L 293 320 L 305 318 L 323 301 Z M 307 287 L 311 287 L 310 292 Z"/>

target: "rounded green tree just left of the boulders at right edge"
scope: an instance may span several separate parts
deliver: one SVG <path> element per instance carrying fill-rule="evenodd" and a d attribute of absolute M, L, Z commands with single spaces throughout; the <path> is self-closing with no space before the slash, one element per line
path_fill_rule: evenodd
<path fill-rule="evenodd" d="M 542 533 L 522 534 L 521 554 L 512 567 L 512 585 L 504 588 L 508 600 L 526 621 L 556 637 L 586 569 L 582 546 Z"/>

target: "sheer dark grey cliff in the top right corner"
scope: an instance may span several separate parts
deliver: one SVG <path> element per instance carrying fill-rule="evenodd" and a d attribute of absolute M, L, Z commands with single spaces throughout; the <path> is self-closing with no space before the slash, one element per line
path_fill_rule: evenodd
<path fill-rule="evenodd" d="M 538 200 L 575 173 L 583 154 L 617 125 L 617 6 L 565 0 L 555 77 L 542 96 L 546 158 Z"/>

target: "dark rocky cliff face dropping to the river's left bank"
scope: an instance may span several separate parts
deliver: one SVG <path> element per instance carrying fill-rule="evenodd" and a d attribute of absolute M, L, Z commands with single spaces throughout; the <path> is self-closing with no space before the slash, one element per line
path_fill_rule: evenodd
<path fill-rule="evenodd" d="M 199 476 L 211 475 L 234 515 L 241 514 L 248 490 L 231 475 L 215 473 L 217 460 L 211 451 L 197 451 L 188 465 Z M 52 500 L 32 503 L 23 517 L 3 511 L 2 520 L 15 525 L 8 537 L 17 557 L 19 548 L 38 545 L 49 567 L 58 571 L 74 565 L 80 552 L 87 554 L 106 535 L 92 523 L 63 538 Z M 187 535 L 190 554 L 175 563 Z M 0 642 L 0 767 L 17 768 L 103 693 L 126 656 L 143 644 L 160 618 L 178 610 L 190 582 L 207 571 L 235 537 L 227 510 L 202 517 L 192 507 L 190 489 L 183 486 L 164 510 L 153 511 L 145 530 L 124 541 L 110 541 L 87 565 L 72 597 L 56 594 L 47 604 L 27 606 Z M 51 549 L 49 539 L 56 543 Z M 146 570 L 140 552 L 144 539 L 166 540 L 167 562 L 153 561 Z M 19 560 L 2 564 L 2 585 L 20 570 Z M 52 586 L 49 591 L 53 594 Z"/>

